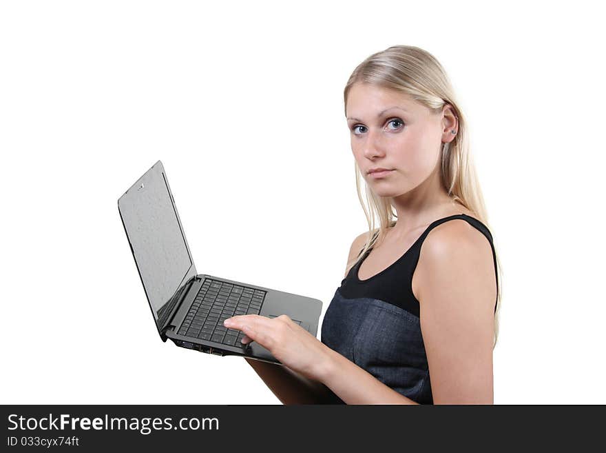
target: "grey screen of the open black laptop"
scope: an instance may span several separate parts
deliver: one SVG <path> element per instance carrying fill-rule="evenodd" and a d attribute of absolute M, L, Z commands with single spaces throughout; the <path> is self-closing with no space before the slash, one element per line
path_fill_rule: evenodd
<path fill-rule="evenodd" d="M 160 308 L 196 275 L 160 161 L 118 200 L 118 208 L 157 322 Z"/>

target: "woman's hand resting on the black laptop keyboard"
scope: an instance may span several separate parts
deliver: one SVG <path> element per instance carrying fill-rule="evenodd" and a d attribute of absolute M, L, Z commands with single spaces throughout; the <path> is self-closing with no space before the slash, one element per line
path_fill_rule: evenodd
<path fill-rule="evenodd" d="M 330 348 L 286 314 L 276 318 L 242 314 L 226 319 L 223 325 L 244 332 L 242 343 L 256 341 L 291 370 L 308 379 L 322 381 L 326 363 L 330 360 Z"/>

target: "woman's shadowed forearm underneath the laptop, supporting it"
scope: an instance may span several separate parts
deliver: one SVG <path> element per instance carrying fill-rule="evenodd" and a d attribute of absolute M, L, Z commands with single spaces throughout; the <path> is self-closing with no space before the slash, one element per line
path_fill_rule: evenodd
<path fill-rule="evenodd" d="M 323 383 L 307 379 L 286 366 L 248 358 L 246 361 L 285 405 L 342 403 Z"/>

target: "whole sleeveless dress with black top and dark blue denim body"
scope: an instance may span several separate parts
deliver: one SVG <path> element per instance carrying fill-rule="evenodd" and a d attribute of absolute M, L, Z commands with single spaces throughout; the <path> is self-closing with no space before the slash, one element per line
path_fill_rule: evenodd
<path fill-rule="evenodd" d="M 466 220 L 486 236 L 498 285 L 490 231 L 473 217 L 455 214 L 431 223 L 393 265 L 370 279 L 360 280 L 357 272 L 370 253 L 368 250 L 335 291 L 322 321 L 322 343 L 419 404 L 432 404 L 433 398 L 419 301 L 412 293 L 412 274 L 430 230 L 451 219 Z M 344 401 L 334 395 L 329 403 Z"/>

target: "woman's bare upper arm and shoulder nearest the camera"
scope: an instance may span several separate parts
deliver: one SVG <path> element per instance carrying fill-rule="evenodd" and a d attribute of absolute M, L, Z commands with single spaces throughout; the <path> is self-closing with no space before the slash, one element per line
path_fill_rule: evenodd
<path fill-rule="evenodd" d="M 464 219 L 452 219 L 430 230 L 417 268 L 434 403 L 492 404 L 497 287 L 490 242 Z"/>

